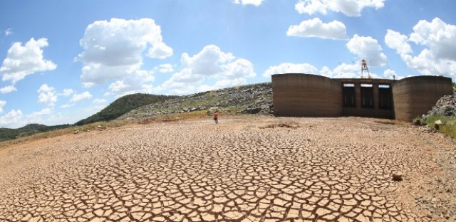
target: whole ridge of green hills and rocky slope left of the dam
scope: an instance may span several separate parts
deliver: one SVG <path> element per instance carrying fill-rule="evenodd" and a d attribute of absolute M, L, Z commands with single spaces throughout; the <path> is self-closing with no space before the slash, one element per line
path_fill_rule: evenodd
<path fill-rule="evenodd" d="M 100 112 L 75 125 L 109 120 L 143 119 L 156 115 L 182 112 L 210 112 L 217 109 L 225 113 L 272 113 L 271 83 L 242 85 L 222 90 L 212 90 L 184 96 L 132 94 L 118 98 Z M 73 127 L 74 125 L 46 126 L 29 124 L 19 129 L 0 128 L 0 142 L 8 139 L 26 137 L 38 132 Z"/>

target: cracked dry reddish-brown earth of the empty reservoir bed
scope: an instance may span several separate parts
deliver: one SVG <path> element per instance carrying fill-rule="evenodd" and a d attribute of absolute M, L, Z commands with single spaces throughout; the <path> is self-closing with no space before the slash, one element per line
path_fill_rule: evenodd
<path fill-rule="evenodd" d="M 454 188 L 455 143 L 379 121 L 230 117 L 6 147 L 0 221 L 455 221 L 455 191 L 432 185 Z"/>

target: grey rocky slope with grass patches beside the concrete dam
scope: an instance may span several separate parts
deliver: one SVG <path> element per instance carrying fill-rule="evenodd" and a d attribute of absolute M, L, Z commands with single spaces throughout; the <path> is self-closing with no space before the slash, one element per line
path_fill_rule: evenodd
<path fill-rule="evenodd" d="M 142 119 L 155 115 L 204 110 L 210 112 L 214 109 L 232 114 L 270 114 L 272 113 L 271 83 L 242 85 L 234 88 L 184 95 L 139 107 L 118 119 Z"/>

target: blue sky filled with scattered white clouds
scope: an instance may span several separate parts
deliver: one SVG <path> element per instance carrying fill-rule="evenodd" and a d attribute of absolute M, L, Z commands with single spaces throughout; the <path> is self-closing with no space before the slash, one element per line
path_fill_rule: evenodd
<path fill-rule="evenodd" d="M 276 73 L 456 80 L 454 0 L 0 1 L 0 127 Z"/>

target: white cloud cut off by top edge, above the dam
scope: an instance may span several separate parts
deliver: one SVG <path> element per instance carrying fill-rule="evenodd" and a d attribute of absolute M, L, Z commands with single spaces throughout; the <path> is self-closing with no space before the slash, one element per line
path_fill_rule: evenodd
<path fill-rule="evenodd" d="M 299 0 L 294 9 L 299 14 L 328 14 L 328 11 L 341 12 L 346 16 L 361 16 L 366 7 L 381 9 L 385 0 Z"/>

